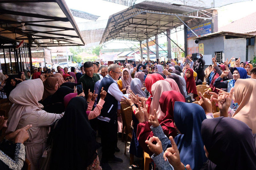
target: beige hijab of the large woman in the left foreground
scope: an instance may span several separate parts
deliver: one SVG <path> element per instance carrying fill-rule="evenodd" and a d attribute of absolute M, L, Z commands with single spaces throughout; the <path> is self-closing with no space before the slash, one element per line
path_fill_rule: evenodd
<path fill-rule="evenodd" d="M 9 100 L 14 103 L 8 113 L 7 130 L 14 132 L 18 126 L 21 116 L 28 118 L 44 107 L 38 103 L 42 99 L 44 85 L 41 79 L 22 81 L 10 93 Z"/>

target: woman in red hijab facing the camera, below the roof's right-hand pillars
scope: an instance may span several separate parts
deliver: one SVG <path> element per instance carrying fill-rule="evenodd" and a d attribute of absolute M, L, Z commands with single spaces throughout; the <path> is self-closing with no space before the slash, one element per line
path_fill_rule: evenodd
<path fill-rule="evenodd" d="M 188 92 L 188 95 L 191 96 L 192 101 L 194 101 L 195 98 L 198 96 L 197 90 L 196 90 L 196 82 L 194 80 L 193 73 L 194 73 L 193 69 L 190 69 L 190 68 L 187 69 L 185 73 L 187 92 Z"/>

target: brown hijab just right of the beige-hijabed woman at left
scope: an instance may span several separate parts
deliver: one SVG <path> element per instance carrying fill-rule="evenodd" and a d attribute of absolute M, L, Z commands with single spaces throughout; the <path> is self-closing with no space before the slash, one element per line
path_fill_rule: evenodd
<path fill-rule="evenodd" d="M 48 77 L 44 81 L 44 93 L 42 97 L 42 101 L 46 99 L 48 96 L 53 95 L 59 88 L 58 77 Z"/>

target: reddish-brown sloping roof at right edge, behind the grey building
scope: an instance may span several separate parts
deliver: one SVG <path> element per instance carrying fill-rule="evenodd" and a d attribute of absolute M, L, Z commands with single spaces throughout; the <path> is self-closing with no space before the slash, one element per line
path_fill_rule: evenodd
<path fill-rule="evenodd" d="M 222 26 L 219 31 L 256 33 L 256 12 L 245 16 L 239 20 L 233 21 L 226 26 Z"/>

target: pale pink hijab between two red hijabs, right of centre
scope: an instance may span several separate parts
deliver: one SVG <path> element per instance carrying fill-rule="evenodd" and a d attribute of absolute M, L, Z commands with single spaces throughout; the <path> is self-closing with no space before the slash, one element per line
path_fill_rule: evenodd
<path fill-rule="evenodd" d="M 160 97 L 164 91 L 170 91 L 172 90 L 172 87 L 170 86 L 170 83 L 164 80 L 158 80 L 156 83 L 152 85 L 151 92 L 152 92 L 152 102 L 150 105 L 149 114 L 154 114 L 154 109 L 156 109 L 156 114 L 158 119 L 163 119 L 165 116 L 165 113 L 162 112 L 159 104 Z"/>

